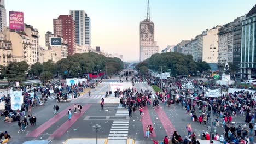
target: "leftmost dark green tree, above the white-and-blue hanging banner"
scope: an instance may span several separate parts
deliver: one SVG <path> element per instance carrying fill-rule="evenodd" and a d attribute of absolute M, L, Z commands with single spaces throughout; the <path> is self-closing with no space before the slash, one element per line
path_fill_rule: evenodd
<path fill-rule="evenodd" d="M 3 75 L 7 77 L 8 84 L 10 81 L 24 81 L 26 79 L 26 71 L 28 70 L 28 64 L 26 61 L 12 62 L 3 70 Z"/>

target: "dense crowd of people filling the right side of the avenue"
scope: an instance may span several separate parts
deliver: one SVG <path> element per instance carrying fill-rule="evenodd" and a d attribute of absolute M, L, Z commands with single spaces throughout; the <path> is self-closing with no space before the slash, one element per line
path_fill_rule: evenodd
<path fill-rule="evenodd" d="M 143 75 L 132 76 L 131 81 L 133 83 L 147 81 L 149 85 L 156 84 L 160 86 L 161 84 L 158 79 Z M 193 81 L 195 88 L 183 89 L 182 83 L 186 81 Z M 224 143 L 249 143 L 250 141 L 253 141 L 253 136 L 256 136 L 256 123 L 254 124 L 254 118 L 256 116 L 254 98 L 256 96 L 256 92 L 251 93 L 249 91 L 241 90 L 235 91 L 234 93 L 226 93 L 220 97 L 206 97 L 204 89 L 210 88 L 211 85 L 205 85 L 202 81 L 187 78 L 163 80 L 162 86 L 162 92 L 156 92 L 155 99 L 153 100 L 152 92 L 149 92 L 148 89 L 141 89 L 139 92 L 135 87 L 131 89 L 129 88 L 125 90 L 125 92 L 121 92 L 120 104 L 123 105 L 123 107 L 128 107 L 130 117 L 132 117 L 132 113 L 136 113 L 136 110 L 138 110 L 140 115 L 142 115 L 142 107 L 144 106 L 151 107 L 152 105 L 155 108 L 158 107 L 160 103 L 167 107 L 170 107 L 171 104 L 180 105 L 186 113 L 190 115 L 191 122 L 198 122 L 199 124 L 207 126 L 211 123 L 211 107 L 206 103 L 197 101 L 202 100 L 212 106 L 212 112 L 215 117 L 213 118 L 213 125 L 215 127 L 223 127 L 223 133 L 225 135 L 219 136 L 219 134 L 216 133 L 215 135 L 212 135 L 214 140 Z M 176 94 L 185 95 L 197 100 L 179 97 Z M 245 122 L 249 126 L 235 126 L 232 121 L 234 116 L 245 116 Z M 146 137 L 149 137 L 147 132 L 150 132 L 149 129 L 150 127 L 146 128 Z M 173 135 L 170 138 L 170 141 L 172 143 L 199 143 L 195 139 L 196 135 L 192 131 L 191 125 L 188 125 L 186 129 L 188 130 L 188 136 L 186 136 L 184 140 L 182 140 L 179 135 Z M 210 134 L 208 132 L 203 132 L 200 135 L 200 139 L 202 140 L 210 139 Z M 165 143 L 167 142 L 167 138 L 164 138 Z"/>

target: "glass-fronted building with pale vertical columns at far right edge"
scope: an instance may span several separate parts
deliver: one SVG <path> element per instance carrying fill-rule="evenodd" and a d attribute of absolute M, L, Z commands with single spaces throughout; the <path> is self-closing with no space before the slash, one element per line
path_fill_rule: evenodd
<path fill-rule="evenodd" d="M 241 77 L 251 78 L 256 74 L 256 5 L 242 20 Z"/>

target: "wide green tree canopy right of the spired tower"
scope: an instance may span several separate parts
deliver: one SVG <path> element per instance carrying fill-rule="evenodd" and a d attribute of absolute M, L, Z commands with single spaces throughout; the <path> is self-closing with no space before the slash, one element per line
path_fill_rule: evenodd
<path fill-rule="evenodd" d="M 184 55 L 178 52 L 156 53 L 150 58 L 136 65 L 136 69 L 141 73 L 146 73 L 147 69 L 160 72 L 170 71 L 172 76 L 196 74 L 197 71 L 210 69 L 206 62 L 193 61 L 192 55 Z M 146 70 L 145 70 L 146 69 Z"/>

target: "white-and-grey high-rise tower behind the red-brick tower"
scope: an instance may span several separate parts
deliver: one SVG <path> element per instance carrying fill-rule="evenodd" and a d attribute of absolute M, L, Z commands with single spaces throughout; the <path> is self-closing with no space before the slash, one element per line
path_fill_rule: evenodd
<path fill-rule="evenodd" d="M 87 16 L 84 10 L 70 10 L 69 13 L 75 22 L 75 43 L 90 45 L 90 17 Z"/>

